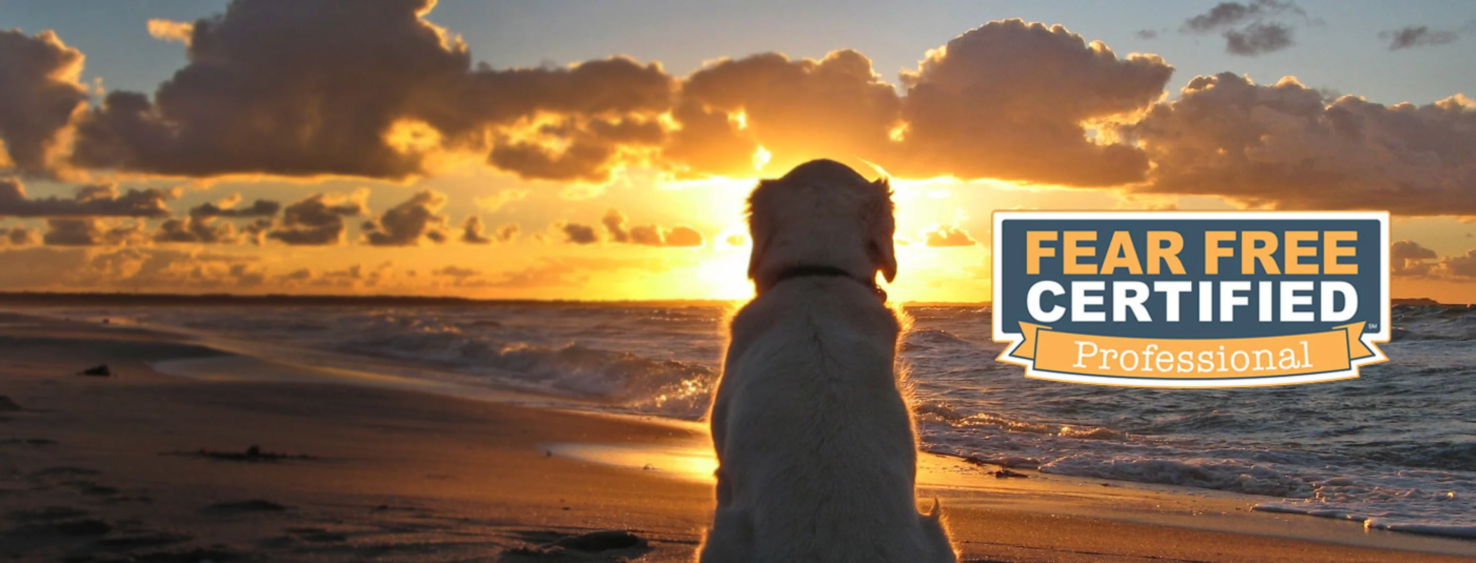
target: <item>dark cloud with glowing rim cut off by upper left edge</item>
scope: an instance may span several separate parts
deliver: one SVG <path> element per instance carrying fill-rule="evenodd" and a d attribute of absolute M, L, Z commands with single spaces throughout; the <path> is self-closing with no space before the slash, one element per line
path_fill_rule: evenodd
<path fill-rule="evenodd" d="M 52 31 L 0 31 L 0 140 L 19 172 L 55 175 L 58 134 L 87 105 L 83 60 Z"/>

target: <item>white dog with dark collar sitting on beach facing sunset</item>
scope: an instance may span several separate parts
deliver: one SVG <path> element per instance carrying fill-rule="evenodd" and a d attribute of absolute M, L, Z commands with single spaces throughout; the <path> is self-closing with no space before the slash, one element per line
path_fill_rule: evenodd
<path fill-rule="evenodd" d="M 834 161 L 748 197 L 759 296 L 732 320 L 708 419 L 717 511 L 703 563 L 956 562 L 937 503 L 914 498 L 917 438 L 897 389 L 892 192 Z"/>

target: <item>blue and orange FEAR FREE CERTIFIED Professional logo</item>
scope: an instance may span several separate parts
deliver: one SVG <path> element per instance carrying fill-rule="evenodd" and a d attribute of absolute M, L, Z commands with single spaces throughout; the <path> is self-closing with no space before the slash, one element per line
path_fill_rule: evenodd
<path fill-rule="evenodd" d="M 1386 361 L 1389 214 L 993 215 L 993 332 L 1026 377 L 1231 388 Z"/>

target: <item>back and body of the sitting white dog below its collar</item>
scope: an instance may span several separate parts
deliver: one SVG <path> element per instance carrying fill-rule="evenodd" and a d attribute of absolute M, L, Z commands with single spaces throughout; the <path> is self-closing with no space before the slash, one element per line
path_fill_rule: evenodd
<path fill-rule="evenodd" d="M 760 295 L 732 320 L 710 413 L 719 507 L 701 562 L 953 562 L 914 500 L 897 318 L 861 276 L 760 279 L 754 234 Z"/>

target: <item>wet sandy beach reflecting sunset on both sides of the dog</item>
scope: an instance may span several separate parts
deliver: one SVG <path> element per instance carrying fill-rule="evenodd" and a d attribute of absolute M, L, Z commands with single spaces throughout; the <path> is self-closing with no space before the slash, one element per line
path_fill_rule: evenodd
<path fill-rule="evenodd" d="M 74 376 L 97 364 L 114 376 Z M 711 510 L 700 426 L 455 392 L 0 314 L 0 559 L 691 557 Z M 995 469 L 924 458 L 921 495 L 942 498 L 965 560 L 1476 559 L 1473 541 L 1252 513 L 1246 497 Z M 641 545 L 571 544 L 608 529 Z"/>

